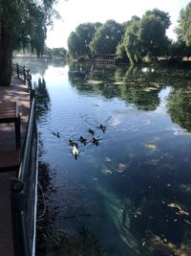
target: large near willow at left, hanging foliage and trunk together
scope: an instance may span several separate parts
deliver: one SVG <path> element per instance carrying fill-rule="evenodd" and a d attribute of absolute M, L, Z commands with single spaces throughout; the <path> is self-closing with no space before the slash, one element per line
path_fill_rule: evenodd
<path fill-rule="evenodd" d="M 47 26 L 57 0 L 0 0 L 0 86 L 11 84 L 12 51 L 31 47 L 43 52 Z"/>

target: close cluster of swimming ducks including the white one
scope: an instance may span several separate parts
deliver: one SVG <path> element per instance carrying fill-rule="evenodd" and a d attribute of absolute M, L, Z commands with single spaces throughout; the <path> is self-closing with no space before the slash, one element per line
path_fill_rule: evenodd
<path fill-rule="evenodd" d="M 103 125 L 100 125 L 98 128 L 101 129 L 103 132 L 105 132 L 105 130 L 106 130 L 106 127 L 103 126 Z M 90 140 L 90 142 L 92 142 L 93 144 L 98 146 L 99 139 L 97 139 L 95 137 L 95 131 L 92 128 L 89 128 L 88 131 L 90 132 L 90 134 L 92 134 L 92 139 Z M 83 136 L 80 136 L 79 137 L 79 142 L 83 143 L 84 145 L 86 145 L 88 143 L 88 139 L 84 138 Z M 77 154 L 79 153 L 78 143 L 74 142 L 73 140 L 70 139 L 69 140 L 69 145 L 71 147 L 73 147 L 72 153 L 74 154 L 74 158 L 76 159 L 77 158 Z"/>

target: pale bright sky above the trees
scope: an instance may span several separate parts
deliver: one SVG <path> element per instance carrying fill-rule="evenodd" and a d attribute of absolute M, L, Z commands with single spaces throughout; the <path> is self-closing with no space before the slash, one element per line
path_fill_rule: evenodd
<path fill-rule="evenodd" d="M 148 10 L 158 8 L 168 12 L 171 23 L 167 35 L 176 40 L 173 32 L 177 25 L 180 10 L 191 0 L 59 0 L 55 9 L 61 15 L 60 20 L 54 20 L 53 29 L 48 29 L 46 44 L 48 47 L 64 47 L 67 49 L 67 39 L 75 28 L 85 22 L 104 23 L 114 19 L 118 23 L 130 20 L 133 15 L 139 17 Z"/>

